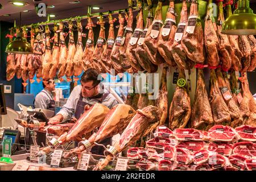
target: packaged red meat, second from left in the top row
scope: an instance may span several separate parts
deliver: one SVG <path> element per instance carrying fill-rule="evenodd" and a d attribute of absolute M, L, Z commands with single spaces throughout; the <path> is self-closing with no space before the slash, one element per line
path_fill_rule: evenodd
<path fill-rule="evenodd" d="M 175 129 L 174 135 L 177 140 L 203 140 L 204 134 L 200 130 L 196 129 Z"/>

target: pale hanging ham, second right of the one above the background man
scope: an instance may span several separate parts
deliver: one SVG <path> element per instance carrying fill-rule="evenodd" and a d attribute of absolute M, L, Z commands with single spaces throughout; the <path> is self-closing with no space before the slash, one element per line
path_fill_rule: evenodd
<path fill-rule="evenodd" d="M 65 71 L 67 68 L 67 53 L 68 49 L 65 44 L 65 38 L 64 38 L 64 24 L 60 21 L 60 56 L 59 56 L 59 64 L 57 68 L 59 69 L 57 77 L 60 81 L 63 81 L 63 76 L 65 75 Z"/>

